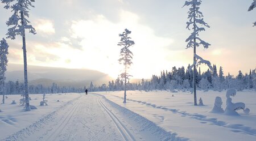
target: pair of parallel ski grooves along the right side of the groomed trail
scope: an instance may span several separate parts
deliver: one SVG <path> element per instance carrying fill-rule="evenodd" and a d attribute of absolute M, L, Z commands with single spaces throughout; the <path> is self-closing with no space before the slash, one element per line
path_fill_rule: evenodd
<path fill-rule="evenodd" d="M 123 136 L 123 139 L 129 141 L 129 140 L 135 140 L 134 136 L 130 133 L 130 131 L 125 127 L 125 125 L 122 124 L 122 122 L 118 119 L 117 116 L 115 116 L 114 113 L 111 112 L 111 110 L 109 110 L 101 101 L 101 98 L 99 96 L 97 96 L 98 102 L 100 103 L 100 105 L 102 106 L 102 108 L 105 109 L 106 113 L 109 114 L 109 117 L 112 118 L 113 122 L 115 123 L 115 125 L 117 126 L 118 130 L 120 131 L 120 133 Z"/>

